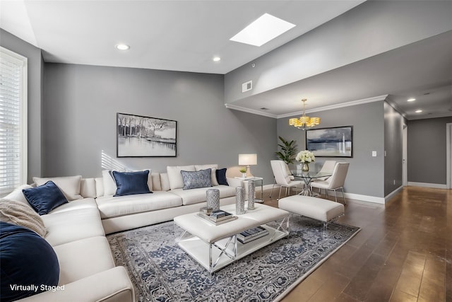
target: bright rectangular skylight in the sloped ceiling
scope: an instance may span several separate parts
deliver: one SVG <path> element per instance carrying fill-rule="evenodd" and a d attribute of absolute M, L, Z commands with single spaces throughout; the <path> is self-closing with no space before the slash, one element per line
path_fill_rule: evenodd
<path fill-rule="evenodd" d="M 231 37 L 230 40 L 254 46 L 261 46 L 293 27 L 295 27 L 295 24 L 271 16 L 268 13 L 264 13 L 256 21 L 237 33 L 237 35 Z"/>

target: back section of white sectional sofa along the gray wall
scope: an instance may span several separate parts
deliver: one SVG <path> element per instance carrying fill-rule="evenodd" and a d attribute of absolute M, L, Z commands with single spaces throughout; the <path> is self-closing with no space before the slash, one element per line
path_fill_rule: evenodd
<path fill-rule="evenodd" d="M 185 165 L 168 168 L 169 173 L 150 173 L 148 186 L 152 194 L 114 197 L 116 187 L 108 171 L 103 171 L 102 178 L 95 178 L 97 192 L 95 200 L 105 233 L 148 226 L 198 211 L 201 207 L 206 207 L 206 191 L 210 188 L 220 190 L 220 205 L 232 204 L 235 202 L 235 187 L 242 185 L 240 180 L 227 178 L 228 185 L 218 185 L 212 180 L 212 187 L 184 190 L 179 174 L 174 172 L 203 168 L 214 170 L 218 165 Z"/>

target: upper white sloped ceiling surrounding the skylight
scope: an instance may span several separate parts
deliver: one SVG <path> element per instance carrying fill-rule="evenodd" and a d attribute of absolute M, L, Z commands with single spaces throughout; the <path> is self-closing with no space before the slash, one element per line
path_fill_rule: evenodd
<path fill-rule="evenodd" d="M 363 1 L 1 1 L 0 25 L 45 62 L 226 74 Z M 263 13 L 297 26 L 261 47 L 229 40 Z"/>

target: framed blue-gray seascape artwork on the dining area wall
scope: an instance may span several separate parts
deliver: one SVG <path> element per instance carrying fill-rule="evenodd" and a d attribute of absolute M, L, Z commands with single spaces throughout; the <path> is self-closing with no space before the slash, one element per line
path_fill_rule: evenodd
<path fill-rule="evenodd" d="M 353 157 L 353 126 L 307 130 L 306 149 L 318 157 Z"/>

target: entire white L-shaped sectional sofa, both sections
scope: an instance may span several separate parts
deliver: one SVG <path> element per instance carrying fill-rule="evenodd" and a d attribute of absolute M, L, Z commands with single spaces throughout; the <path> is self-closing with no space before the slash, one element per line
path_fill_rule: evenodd
<path fill-rule="evenodd" d="M 206 207 L 206 191 L 220 190 L 220 205 L 235 202 L 235 187 L 240 180 L 227 178 L 228 185 L 184 190 L 179 170 L 200 170 L 217 165 L 168 167 L 166 173 L 149 173 L 148 187 L 152 193 L 114 197 L 114 181 L 108 171 L 102 178 L 79 178 L 79 186 L 67 187 L 65 178 L 49 178 L 69 200 L 41 216 L 47 234 L 44 237 L 57 254 L 59 285 L 64 291 L 44 291 L 19 301 L 135 301 L 133 286 L 124 267 L 115 267 L 105 234 L 125 231 L 172 220 L 175 216 Z M 37 179 L 42 183 L 49 179 Z M 62 184 L 62 185 L 59 185 Z M 64 187 L 66 185 L 66 187 Z M 66 194 L 67 193 L 67 194 Z M 16 190 L 8 199 L 27 200 Z"/>

